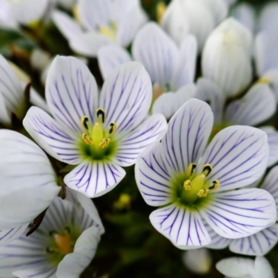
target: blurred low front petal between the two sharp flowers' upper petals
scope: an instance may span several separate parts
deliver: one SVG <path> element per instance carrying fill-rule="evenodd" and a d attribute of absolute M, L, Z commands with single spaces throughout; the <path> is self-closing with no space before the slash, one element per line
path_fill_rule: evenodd
<path fill-rule="evenodd" d="M 194 83 L 184 85 L 177 92 L 167 92 L 162 94 L 152 106 L 152 114 L 161 113 L 166 119 L 170 119 L 183 104 L 196 95 L 196 86 Z"/>

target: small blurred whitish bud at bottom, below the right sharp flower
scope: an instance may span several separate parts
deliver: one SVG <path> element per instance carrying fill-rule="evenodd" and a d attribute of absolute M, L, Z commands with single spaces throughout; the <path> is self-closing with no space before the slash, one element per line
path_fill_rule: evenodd
<path fill-rule="evenodd" d="M 191 272 L 204 275 L 211 270 L 211 254 L 206 248 L 187 250 L 183 253 L 183 263 Z"/>

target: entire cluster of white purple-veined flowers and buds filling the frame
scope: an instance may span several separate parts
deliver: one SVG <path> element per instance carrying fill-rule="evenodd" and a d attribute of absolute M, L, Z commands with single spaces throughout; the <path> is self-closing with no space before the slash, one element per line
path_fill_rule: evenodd
<path fill-rule="evenodd" d="M 33 51 L 44 99 L 0 55 L 0 277 L 79 277 L 104 233 L 90 198 L 131 165 L 188 268 L 208 272 L 203 247 L 229 247 L 256 259 L 223 259 L 224 275 L 274 277 L 278 131 L 263 123 L 277 112 L 278 4 L 258 19 L 235 1 L 172 0 L 156 23 L 138 0 L 34 1 L 0 0 L 1 28 L 52 20 L 82 57 Z"/>

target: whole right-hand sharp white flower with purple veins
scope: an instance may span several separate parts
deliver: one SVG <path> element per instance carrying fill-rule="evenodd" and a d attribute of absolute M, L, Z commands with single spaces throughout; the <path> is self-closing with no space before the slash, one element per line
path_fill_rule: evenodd
<path fill-rule="evenodd" d="M 150 215 L 152 225 L 185 250 L 211 243 L 204 223 L 225 238 L 242 238 L 276 220 L 270 193 L 235 190 L 263 174 L 268 161 L 265 132 L 229 126 L 204 151 L 212 126 L 208 104 L 190 99 L 171 118 L 162 142 L 149 146 L 136 161 L 142 197 L 151 206 L 162 206 Z"/>

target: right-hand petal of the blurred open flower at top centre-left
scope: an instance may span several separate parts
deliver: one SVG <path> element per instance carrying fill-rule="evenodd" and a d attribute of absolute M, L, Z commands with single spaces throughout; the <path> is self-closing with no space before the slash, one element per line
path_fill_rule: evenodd
<path fill-rule="evenodd" d="M 122 15 L 122 11 L 120 15 Z M 140 27 L 146 22 L 147 15 L 138 3 L 129 13 L 122 16 L 117 30 L 117 42 L 127 47 L 132 42 L 136 33 L 138 33 Z"/>

